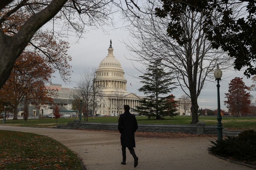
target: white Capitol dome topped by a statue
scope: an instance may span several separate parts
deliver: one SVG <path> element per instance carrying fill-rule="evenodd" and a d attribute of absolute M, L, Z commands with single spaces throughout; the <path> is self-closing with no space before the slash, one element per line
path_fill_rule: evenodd
<path fill-rule="evenodd" d="M 108 55 L 104 58 L 96 70 L 96 84 L 102 85 L 103 91 L 113 92 L 115 89 L 126 91 L 127 80 L 124 78 L 124 70 L 121 63 L 113 55 L 112 41 L 108 48 Z"/>

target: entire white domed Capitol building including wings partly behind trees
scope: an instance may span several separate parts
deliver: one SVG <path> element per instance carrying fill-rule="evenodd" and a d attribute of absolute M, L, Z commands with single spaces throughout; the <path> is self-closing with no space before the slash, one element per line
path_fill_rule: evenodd
<path fill-rule="evenodd" d="M 96 70 L 97 78 L 95 83 L 96 85 L 101 86 L 103 95 L 100 104 L 95 108 L 94 114 L 114 116 L 117 115 L 118 110 L 118 115 L 120 115 L 124 113 L 124 104 L 128 104 L 131 108 L 135 108 L 135 106 L 139 106 L 139 100 L 144 98 L 135 93 L 127 92 L 127 80 L 124 78 L 124 70 L 122 69 L 121 63 L 114 56 L 113 51 L 114 49 L 110 43 L 108 55 L 100 62 L 99 67 Z M 73 115 L 77 113 L 72 112 L 73 94 L 77 91 L 76 87 L 70 88 L 63 87 L 61 84 L 50 84 L 49 88 L 58 89 L 58 97 L 56 98 L 52 96 L 54 104 L 44 105 L 40 109 L 29 104 L 30 116 L 52 115 L 52 108 L 56 104 L 60 106 L 62 114 Z M 179 101 L 180 99 L 176 100 Z M 180 115 L 185 115 L 181 105 L 177 107 Z M 190 110 L 188 110 L 188 112 L 190 112 Z M 23 110 L 21 107 L 19 115 L 22 116 L 22 114 Z M 88 114 L 92 114 L 92 108 Z"/>

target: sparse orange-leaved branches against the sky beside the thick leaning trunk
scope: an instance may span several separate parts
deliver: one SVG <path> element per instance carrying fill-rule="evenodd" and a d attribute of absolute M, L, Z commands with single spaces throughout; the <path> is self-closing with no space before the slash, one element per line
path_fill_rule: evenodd
<path fill-rule="evenodd" d="M 13 5 L 16 6 L 17 3 L 19 2 L 13 2 Z M 29 5 L 27 0 L 20 2 L 18 6 L 19 8 L 24 8 L 26 5 Z M 32 11 L 28 11 L 29 8 L 23 10 L 14 10 L 12 8 L 13 6 L 4 8 L 2 11 L 0 11 L 1 29 L 4 34 L 10 37 L 15 36 L 28 20 L 28 18 L 33 15 Z M 34 8 L 33 10 L 36 11 L 40 9 L 42 8 Z M 22 54 L 28 51 L 36 53 L 36 55 L 39 55 L 44 60 L 45 65 L 51 67 L 53 72 L 58 70 L 60 77 L 65 82 L 69 81 L 70 79 L 71 69 L 71 66 L 68 63 L 71 61 L 71 56 L 67 54 L 68 48 L 69 43 L 67 41 L 61 40 L 61 37 L 57 34 L 55 35 L 53 31 L 49 31 L 48 29 L 39 29 L 28 42 L 27 47 L 23 50 Z"/>

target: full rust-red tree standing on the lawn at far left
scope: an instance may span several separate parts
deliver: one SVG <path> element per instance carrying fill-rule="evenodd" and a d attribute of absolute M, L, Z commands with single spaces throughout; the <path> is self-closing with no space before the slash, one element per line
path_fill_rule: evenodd
<path fill-rule="evenodd" d="M 36 106 L 51 103 L 49 96 L 55 92 L 46 88 L 54 72 L 52 67 L 34 52 L 23 52 L 16 60 L 10 77 L 0 89 L 0 104 L 8 100 L 8 105 L 13 108 L 13 119 L 17 120 L 18 105 L 27 97 L 28 102 Z"/>

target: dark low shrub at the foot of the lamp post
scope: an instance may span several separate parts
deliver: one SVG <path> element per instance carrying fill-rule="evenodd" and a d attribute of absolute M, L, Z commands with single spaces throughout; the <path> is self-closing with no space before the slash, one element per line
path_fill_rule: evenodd
<path fill-rule="evenodd" d="M 238 137 L 227 137 L 222 141 L 211 141 L 208 148 L 213 154 L 232 157 L 241 161 L 256 161 L 256 132 L 245 130 Z"/>

